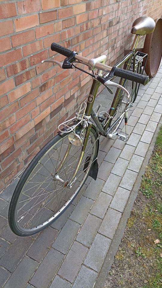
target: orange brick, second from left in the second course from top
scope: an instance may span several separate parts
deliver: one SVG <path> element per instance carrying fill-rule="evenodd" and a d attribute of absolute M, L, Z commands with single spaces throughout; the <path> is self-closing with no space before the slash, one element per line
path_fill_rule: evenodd
<path fill-rule="evenodd" d="M 17 18 L 14 20 L 16 31 L 25 30 L 39 25 L 38 15 L 30 15 L 26 17 Z"/>

